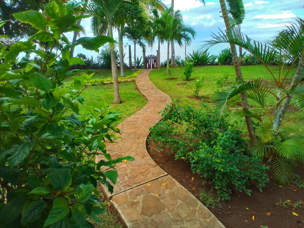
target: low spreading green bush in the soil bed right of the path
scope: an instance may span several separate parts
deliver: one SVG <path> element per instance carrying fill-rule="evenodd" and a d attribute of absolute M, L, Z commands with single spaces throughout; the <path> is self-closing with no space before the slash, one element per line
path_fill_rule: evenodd
<path fill-rule="evenodd" d="M 262 191 L 269 180 L 262 160 L 249 157 L 236 126 L 205 104 L 195 108 L 168 105 L 151 130 L 150 141 L 171 148 L 176 159 L 190 162 L 192 171 L 209 180 L 221 199 L 230 199 L 231 186 L 250 195 L 252 182 Z"/>

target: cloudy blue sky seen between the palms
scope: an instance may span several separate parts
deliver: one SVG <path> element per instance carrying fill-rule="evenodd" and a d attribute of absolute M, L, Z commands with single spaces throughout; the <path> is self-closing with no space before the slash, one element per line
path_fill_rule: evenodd
<path fill-rule="evenodd" d="M 162 0 L 166 5 L 171 5 L 171 0 Z M 249 35 L 252 39 L 265 41 L 271 39 L 278 31 L 284 29 L 288 22 L 299 16 L 304 18 L 304 1 L 303 0 L 289 0 L 289 1 L 255 1 L 255 0 L 243 0 L 245 7 L 245 19 L 241 25 L 243 33 Z M 192 25 L 197 32 L 195 40 L 192 41 L 191 46 L 187 47 L 187 52 L 198 49 L 204 40 L 210 39 L 211 33 L 216 33 L 219 29 L 224 29 L 225 25 L 223 19 L 220 17 L 220 5 L 219 1 L 207 0 L 206 5 L 197 2 L 196 0 L 175 0 L 174 9 L 181 10 L 185 23 Z M 86 19 L 82 22 L 82 26 L 86 29 L 85 36 L 93 36 L 90 29 L 90 19 Z M 117 38 L 117 32 L 114 32 L 115 38 Z M 72 34 L 68 34 L 67 37 L 71 40 Z M 124 40 L 124 44 L 132 44 L 128 40 Z M 225 44 L 214 46 L 210 49 L 212 54 L 218 54 L 220 50 L 228 47 Z M 132 51 L 134 47 L 132 45 Z M 136 47 L 136 54 L 142 56 L 142 52 L 139 47 Z M 127 49 L 126 49 L 127 50 Z M 156 55 L 157 47 L 147 48 L 147 54 Z M 78 53 L 84 53 L 88 56 L 97 56 L 94 51 L 87 51 L 81 47 L 75 49 L 75 55 Z M 185 57 L 184 47 L 175 47 L 176 55 Z M 133 55 L 133 53 L 132 53 Z M 126 57 L 128 53 L 126 53 Z M 167 49 L 165 45 L 161 46 L 161 61 L 167 58 Z"/>

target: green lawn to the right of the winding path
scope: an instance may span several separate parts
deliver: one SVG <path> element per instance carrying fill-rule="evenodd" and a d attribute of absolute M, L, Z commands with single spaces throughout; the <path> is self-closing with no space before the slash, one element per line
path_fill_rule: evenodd
<path fill-rule="evenodd" d="M 263 83 L 274 87 L 274 79 L 271 74 L 267 71 L 267 69 L 262 65 L 254 65 L 254 66 L 242 66 L 242 74 L 244 80 L 252 80 L 256 78 L 261 78 Z M 216 81 L 223 76 L 224 74 L 228 74 L 228 79 L 225 82 L 225 85 L 229 85 L 235 81 L 235 72 L 233 66 L 202 66 L 202 67 L 193 67 L 194 71 L 192 73 L 191 79 L 198 79 L 200 77 L 204 77 L 204 86 L 200 92 L 200 97 L 204 98 L 205 102 L 210 101 L 210 96 L 217 90 Z M 278 75 L 279 69 L 277 66 L 270 66 L 271 71 L 274 72 L 275 76 Z M 292 80 L 292 77 L 295 73 L 296 69 L 292 69 L 289 73 L 289 77 L 287 82 Z M 183 74 L 183 67 L 177 67 L 171 69 L 171 77 L 177 78 L 176 80 L 168 80 L 167 75 L 165 74 L 165 68 L 162 68 L 161 71 L 157 71 L 157 69 L 150 72 L 150 80 L 156 85 L 157 88 L 167 93 L 172 101 L 178 105 L 199 105 L 202 102 L 201 99 L 192 98 L 192 92 L 188 89 L 189 86 L 185 84 L 193 83 L 192 81 L 185 81 Z M 286 70 L 284 72 L 287 72 Z M 212 105 L 212 103 L 210 103 Z M 270 106 L 271 110 L 275 108 L 275 98 L 269 96 L 266 99 L 266 104 Z M 258 107 L 255 103 L 249 101 L 249 105 L 251 110 L 255 110 L 257 112 L 263 112 L 263 110 Z M 291 106 L 293 107 L 291 111 L 286 112 L 285 119 L 289 119 L 292 116 L 299 114 L 300 112 L 296 109 L 295 102 L 291 101 Z M 304 136 L 304 127 L 302 127 L 301 119 L 304 117 L 304 114 L 301 114 L 291 122 L 285 124 L 285 131 L 288 133 L 297 133 L 301 136 Z M 238 120 L 240 129 L 246 133 L 246 126 L 243 119 Z M 300 126 L 300 127 L 299 127 Z"/>

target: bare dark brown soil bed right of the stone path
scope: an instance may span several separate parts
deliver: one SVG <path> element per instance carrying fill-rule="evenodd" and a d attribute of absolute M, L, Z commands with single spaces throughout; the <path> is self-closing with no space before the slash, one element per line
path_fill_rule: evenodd
<path fill-rule="evenodd" d="M 153 160 L 181 185 L 188 189 L 196 198 L 204 189 L 209 192 L 211 187 L 208 181 L 193 174 L 190 164 L 182 160 L 174 160 L 174 155 L 168 149 L 158 151 L 156 145 L 147 144 L 147 150 Z M 297 174 L 304 176 L 304 168 L 298 168 Z M 223 201 L 223 208 L 210 209 L 211 212 L 223 223 L 226 228 L 299 228 L 304 227 L 304 207 L 293 209 L 276 205 L 279 201 L 290 200 L 304 201 L 304 189 L 297 186 L 280 187 L 273 180 L 269 172 L 270 182 L 267 183 L 261 193 L 252 186 L 251 196 L 245 193 L 233 192 L 231 201 Z M 192 181 L 192 177 L 194 180 Z M 216 194 L 216 192 L 214 192 Z M 280 200 L 281 199 L 281 200 Z M 292 214 L 296 212 L 299 216 Z M 266 213 L 271 212 L 268 216 Z M 245 214 L 249 213 L 249 214 Z M 252 219 L 254 216 L 254 220 Z"/>

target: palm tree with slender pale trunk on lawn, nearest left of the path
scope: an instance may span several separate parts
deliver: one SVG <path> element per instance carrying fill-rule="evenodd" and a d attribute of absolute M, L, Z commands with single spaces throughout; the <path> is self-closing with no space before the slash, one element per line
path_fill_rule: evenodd
<path fill-rule="evenodd" d="M 91 27 L 95 35 L 109 33 L 113 38 L 113 26 L 119 24 L 119 19 L 127 15 L 130 2 L 125 0 L 92 0 L 88 5 L 88 12 L 92 15 Z M 114 43 L 110 43 L 111 66 L 114 86 L 114 104 L 121 103 L 118 87 L 117 64 L 114 52 Z"/>

